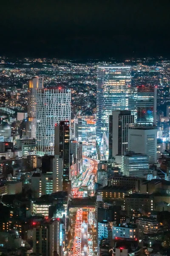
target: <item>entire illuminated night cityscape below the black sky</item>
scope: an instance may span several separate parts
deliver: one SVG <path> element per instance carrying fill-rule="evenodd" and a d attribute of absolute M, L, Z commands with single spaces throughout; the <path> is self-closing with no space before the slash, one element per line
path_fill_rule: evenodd
<path fill-rule="evenodd" d="M 168 252 L 169 81 L 161 57 L 0 57 L 2 255 Z"/>

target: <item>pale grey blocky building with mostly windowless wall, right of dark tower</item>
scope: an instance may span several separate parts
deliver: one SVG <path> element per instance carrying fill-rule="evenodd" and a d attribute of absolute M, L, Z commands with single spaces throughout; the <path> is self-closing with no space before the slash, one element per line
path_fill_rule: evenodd
<path fill-rule="evenodd" d="M 136 127 L 128 129 L 127 139 L 128 151 L 147 154 L 149 164 L 157 163 L 157 128 L 156 127 Z"/>

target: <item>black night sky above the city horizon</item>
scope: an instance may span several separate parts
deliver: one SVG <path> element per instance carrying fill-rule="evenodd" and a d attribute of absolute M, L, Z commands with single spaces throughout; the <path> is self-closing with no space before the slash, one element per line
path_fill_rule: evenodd
<path fill-rule="evenodd" d="M 0 3 L 0 55 L 170 56 L 170 0 Z"/>

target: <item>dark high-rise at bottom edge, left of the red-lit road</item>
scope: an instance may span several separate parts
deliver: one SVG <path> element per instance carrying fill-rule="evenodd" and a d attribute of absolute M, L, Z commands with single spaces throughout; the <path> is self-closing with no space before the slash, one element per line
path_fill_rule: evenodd
<path fill-rule="evenodd" d="M 57 218 L 54 221 L 33 222 L 33 252 L 42 256 L 62 256 L 64 224 Z"/>

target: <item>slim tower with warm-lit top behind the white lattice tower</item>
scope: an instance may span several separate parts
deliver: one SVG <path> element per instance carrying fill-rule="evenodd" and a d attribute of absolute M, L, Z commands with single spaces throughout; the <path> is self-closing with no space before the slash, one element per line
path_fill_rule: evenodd
<path fill-rule="evenodd" d="M 36 93 L 43 88 L 43 78 L 34 77 L 28 82 L 28 137 L 36 138 Z"/>

